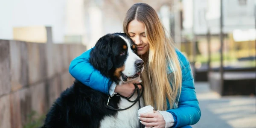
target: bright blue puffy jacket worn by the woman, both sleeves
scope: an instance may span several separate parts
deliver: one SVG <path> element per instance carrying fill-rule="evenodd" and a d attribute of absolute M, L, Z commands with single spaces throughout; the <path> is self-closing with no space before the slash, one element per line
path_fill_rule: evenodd
<path fill-rule="evenodd" d="M 112 81 L 102 76 L 99 70 L 94 69 L 89 63 L 90 51 L 91 49 L 71 61 L 69 72 L 75 79 L 81 81 L 83 84 L 94 90 L 109 94 L 108 89 Z M 168 105 L 167 111 L 172 113 L 175 119 L 175 124 L 172 128 L 194 125 L 201 117 L 189 61 L 179 50 L 176 49 L 176 53 L 182 70 L 182 87 L 177 108 L 169 109 Z"/>

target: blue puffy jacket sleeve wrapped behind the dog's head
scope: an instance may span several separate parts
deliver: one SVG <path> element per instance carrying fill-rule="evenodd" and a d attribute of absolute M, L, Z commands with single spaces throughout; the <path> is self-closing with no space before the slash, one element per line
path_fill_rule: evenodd
<path fill-rule="evenodd" d="M 71 61 L 69 72 L 84 85 L 102 93 L 109 94 L 108 88 L 111 85 L 111 81 L 107 77 L 102 76 L 99 70 L 94 69 L 92 64 L 90 64 L 90 51 L 91 49 Z"/>

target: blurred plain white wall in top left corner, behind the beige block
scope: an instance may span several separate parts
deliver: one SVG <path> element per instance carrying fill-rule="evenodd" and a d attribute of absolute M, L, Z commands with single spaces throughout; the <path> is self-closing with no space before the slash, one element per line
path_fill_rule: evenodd
<path fill-rule="evenodd" d="M 66 0 L 0 0 L 0 39 L 12 39 L 18 26 L 52 26 L 54 42 L 63 42 Z"/>

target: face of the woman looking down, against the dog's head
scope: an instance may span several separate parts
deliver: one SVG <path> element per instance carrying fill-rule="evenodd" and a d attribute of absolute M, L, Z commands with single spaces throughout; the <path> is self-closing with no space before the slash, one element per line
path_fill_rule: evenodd
<path fill-rule="evenodd" d="M 148 52 L 149 44 L 146 38 L 145 26 L 138 20 L 132 20 L 128 24 L 128 34 L 137 46 L 137 54 L 144 55 Z"/>

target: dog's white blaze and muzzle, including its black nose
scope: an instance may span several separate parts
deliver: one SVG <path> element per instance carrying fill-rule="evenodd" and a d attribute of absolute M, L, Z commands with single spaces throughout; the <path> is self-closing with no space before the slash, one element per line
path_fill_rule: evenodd
<path fill-rule="evenodd" d="M 140 73 L 144 68 L 144 61 L 135 54 L 136 48 L 132 40 L 119 35 L 127 44 L 127 56 L 124 63 L 124 69 L 120 76 L 120 82 L 126 83 L 134 80 L 140 80 Z M 134 52 L 135 51 L 135 52 Z M 121 84 L 121 83 L 120 83 Z"/>

